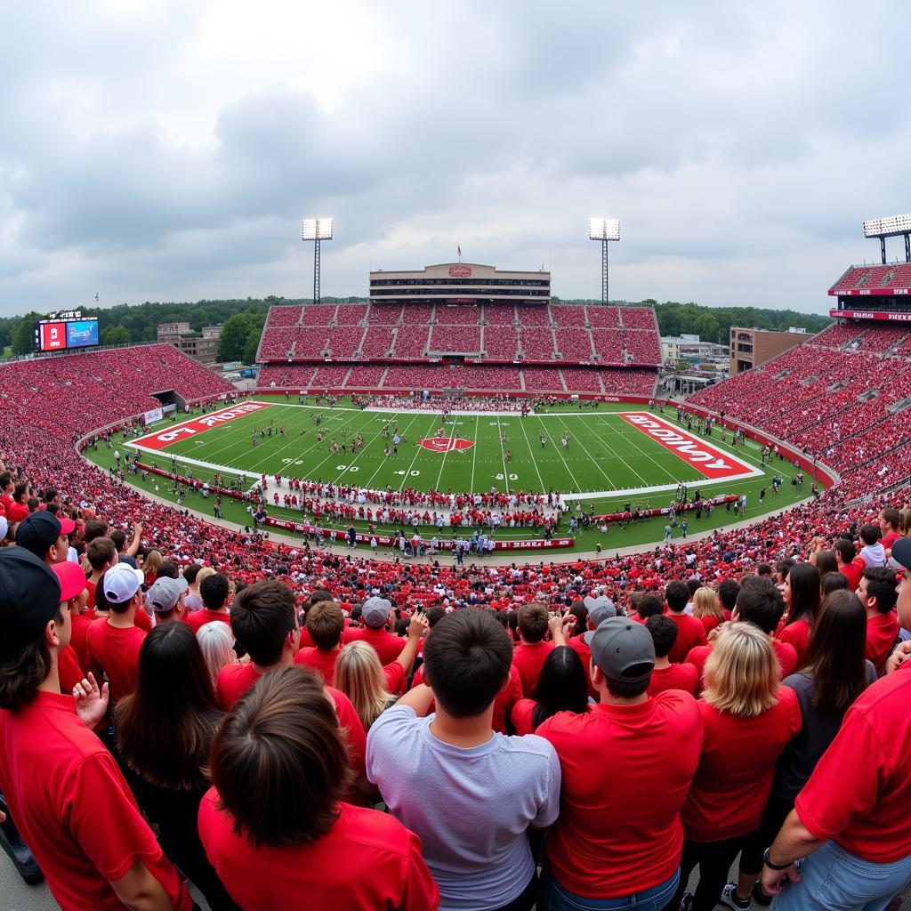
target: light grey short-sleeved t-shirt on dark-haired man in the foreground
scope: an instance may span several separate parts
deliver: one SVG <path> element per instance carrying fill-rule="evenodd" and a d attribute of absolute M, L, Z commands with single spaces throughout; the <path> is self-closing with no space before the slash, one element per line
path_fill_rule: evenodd
<path fill-rule="evenodd" d="M 507 905 L 535 872 L 527 827 L 559 813 L 557 753 L 534 734 L 452 746 L 430 732 L 433 719 L 409 706 L 384 711 L 367 735 L 367 777 L 420 836 L 441 911 Z"/>

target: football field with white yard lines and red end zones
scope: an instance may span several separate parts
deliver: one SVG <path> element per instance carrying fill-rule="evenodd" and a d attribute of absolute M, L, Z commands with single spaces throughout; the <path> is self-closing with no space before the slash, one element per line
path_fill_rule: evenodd
<path fill-rule="evenodd" d="M 210 483 L 218 473 L 223 485 L 244 490 L 254 489 L 261 475 L 270 485 L 281 475 L 371 490 L 559 492 L 596 515 L 621 511 L 628 502 L 633 508 L 666 507 L 681 483 L 691 495 L 696 489 L 703 497 L 746 494 L 751 516 L 807 493 L 789 483 L 793 469 L 788 463 L 762 466 L 758 446 L 734 447 L 730 435 L 722 440 L 717 428 L 711 437 L 700 436 L 677 424 L 672 413 L 658 415 L 630 404 L 567 403 L 526 416 L 479 410 L 444 418 L 442 412 L 362 409 L 349 400 L 327 406 L 312 398 L 301 404 L 295 396 L 257 395 L 208 414 L 161 422 L 121 445 L 138 451 L 147 466 L 163 471 L 177 466 L 180 475 Z M 112 461 L 103 449 L 88 455 L 102 465 Z M 772 496 L 775 475 L 784 483 Z M 128 479 L 161 496 L 179 496 L 179 488 L 160 476 L 141 483 L 137 476 Z M 192 499 L 186 505 L 211 511 L 210 500 L 192 490 L 187 494 Z M 249 521 L 238 502 L 226 500 L 223 511 L 240 524 Z M 269 512 L 301 519 L 299 510 L 271 503 Z M 691 530 L 731 521 L 719 510 L 691 522 Z M 363 523 L 354 524 L 364 530 Z M 660 538 L 663 525 L 655 519 L 620 533 L 611 527 L 608 534 L 619 537 L 616 546 L 634 544 Z M 510 528 L 498 537 L 537 534 L 532 528 Z"/>

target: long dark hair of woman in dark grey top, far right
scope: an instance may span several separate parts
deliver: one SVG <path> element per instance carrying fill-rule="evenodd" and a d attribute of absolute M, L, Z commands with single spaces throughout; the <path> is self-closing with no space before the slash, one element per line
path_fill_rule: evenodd
<path fill-rule="evenodd" d="M 793 572 L 793 570 L 792 570 Z M 827 596 L 810 635 L 806 672 L 814 707 L 844 713 L 866 689 L 866 611 L 853 591 Z"/>

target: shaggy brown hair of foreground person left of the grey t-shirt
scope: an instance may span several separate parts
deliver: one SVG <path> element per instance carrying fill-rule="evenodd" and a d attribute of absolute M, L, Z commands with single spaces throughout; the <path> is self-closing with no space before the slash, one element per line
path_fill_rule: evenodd
<path fill-rule="evenodd" d="M 329 832 L 351 771 L 316 674 L 295 666 L 263 674 L 216 733 L 211 769 L 234 833 L 254 847 L 307 844 Z"/>

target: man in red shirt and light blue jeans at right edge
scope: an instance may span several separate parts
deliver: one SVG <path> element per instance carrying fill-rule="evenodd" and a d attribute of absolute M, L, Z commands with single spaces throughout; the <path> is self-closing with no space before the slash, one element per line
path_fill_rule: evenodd
<path fill-rule="evenodd" d="M 911 570 L 911 538 L 892 557 Z M 898 620 L 911 627 L 911 582 L 898 592 Z M 766 852 L 763 891 L 784 911 L 823 907 L 885 908 L 911 883 L 911 644 L 902 643 L 886 676 L 844 716 L 793 812 Z M 850 786 L 844 770 L 851 769 Z M 804 857 L 800 873 L 793 862 Z M 832 876 L 832 871 L 848 876 Z M 826 892 L 821 895 L 821 890 Z"/>

